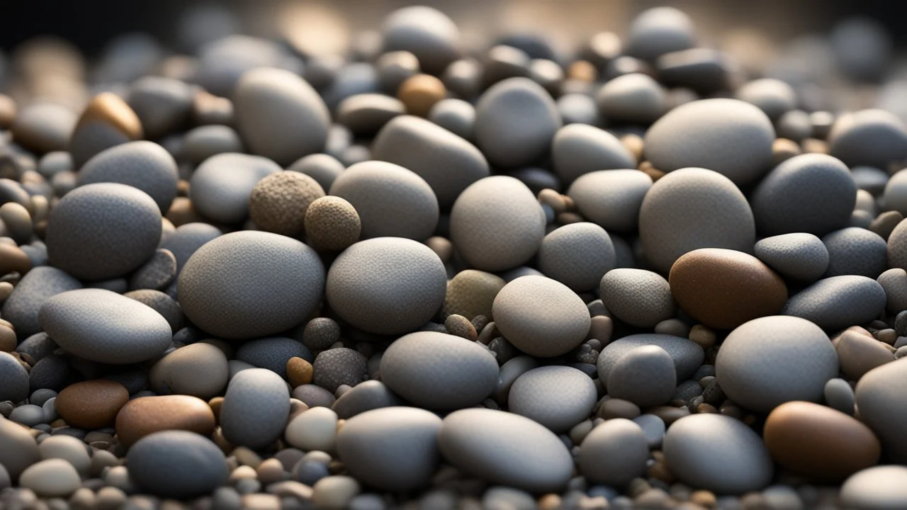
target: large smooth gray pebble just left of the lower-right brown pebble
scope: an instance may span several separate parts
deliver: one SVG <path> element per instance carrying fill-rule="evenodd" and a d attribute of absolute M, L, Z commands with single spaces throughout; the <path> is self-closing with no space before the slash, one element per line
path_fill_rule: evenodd
<path fill-rule="evenodd" d="M 668 427 L 663 451 L 681 482 L 720 495 L 760 490 L 774 474 L 762 438 L 734 417 L 682 417 Z"/>

